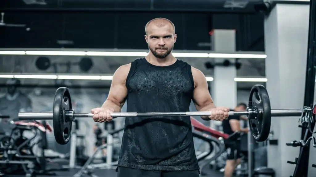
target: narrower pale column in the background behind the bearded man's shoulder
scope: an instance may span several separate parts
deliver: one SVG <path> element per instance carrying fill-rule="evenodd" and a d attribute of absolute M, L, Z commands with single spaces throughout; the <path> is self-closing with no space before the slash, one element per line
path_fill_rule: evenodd
<path fill-rule="evenodd" d="M 236 51 L 235 30 L 214 30 L 212 35 L 213 50 L 221 53 L 234 53 Z M 215 62 L 223 62 L 225 59 L 215 59 Z M 234 59 L 228 59 L 235 62 Z M 215 66 L 214 81 L 211 83 L 211 95 L 216 106 L 234 108 L 237 104 L 237 83 L 235 66 Z M 221 122 L 215 122 L 221 124 Z"/>

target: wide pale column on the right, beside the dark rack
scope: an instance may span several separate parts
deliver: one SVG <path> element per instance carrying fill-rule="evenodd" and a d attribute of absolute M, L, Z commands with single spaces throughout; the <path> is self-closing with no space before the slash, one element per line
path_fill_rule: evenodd
<path fill-rule="evenodd" d="M 277 4 L 264 21 L 266 87 L 273 109 L 302 108 L 307 62 L 309 5 Z M 272 117 L 271 131 L 278 145 L 268 145 L 268 167 L 275 176 L 293 175 L 301 139 L 298 117 Z M 312 153 L 313 154 L 313 153 Z M 313 175 L 311 175 L 313 176 Z"/>

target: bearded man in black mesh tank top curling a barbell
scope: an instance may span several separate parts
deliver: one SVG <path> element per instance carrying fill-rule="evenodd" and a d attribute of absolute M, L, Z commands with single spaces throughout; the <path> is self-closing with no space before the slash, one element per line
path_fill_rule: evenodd
<path fill-rule="evenodd" d="M 204 120 L 222 121 L 229 108 L 216 107 L 204 74 L 171 54 L 177 35 L 170 20 L 145 26 L 149 54 L 115 71 L 107 100 L 91 110 L 94 121 L 111 121 L 127 100 L 127 112 L 186 112 L 193 100 Z M 198 177 L 189 116 L 126 117 L 119 177 Z"/>

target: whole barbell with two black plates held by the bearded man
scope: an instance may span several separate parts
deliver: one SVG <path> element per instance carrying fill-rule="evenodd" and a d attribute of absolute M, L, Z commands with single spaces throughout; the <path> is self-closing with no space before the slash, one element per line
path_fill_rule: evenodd
<path fill-rule="evenodd" d="M 308 109 L 308 111 L 312 111 Z M 306 109 L 271 109 L 270 99 L 263 85 L 252 87 L 246 111 L 229 111 L 229 115 L 247 116 L 252 137 L 256 141 L 265 141 L 270 133 L 271 117 L 302 116 Z M 309 112 L 309 113 L 310 113 Z M 72 109 L 69 89 L 60 87 L 56 90 L 52 112 L 20 112 L 20 120 L 52 120 L 55 140 L 65 145 L 70 140 L 72 122 L 78 117 L 93 117 L 92 113 L 75 113 Z M 190 112 L 114 112 L 115 117 L 155 117 L 155 116 L 210 116 L 210 111 Z"/>

